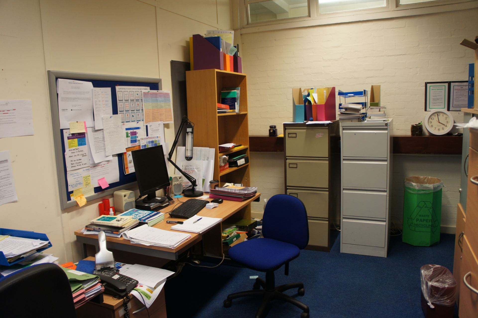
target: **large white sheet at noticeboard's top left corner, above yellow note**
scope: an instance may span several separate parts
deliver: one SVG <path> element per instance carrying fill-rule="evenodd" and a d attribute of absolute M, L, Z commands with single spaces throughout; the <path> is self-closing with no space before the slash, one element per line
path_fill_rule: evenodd
<path fill-rule="evenodd" d="M 86 121 L 93 127 L 93 84 L 91 82 L 58 78 L 58 113 L 60 129 L 69 129 L 70 121 Z"/>

